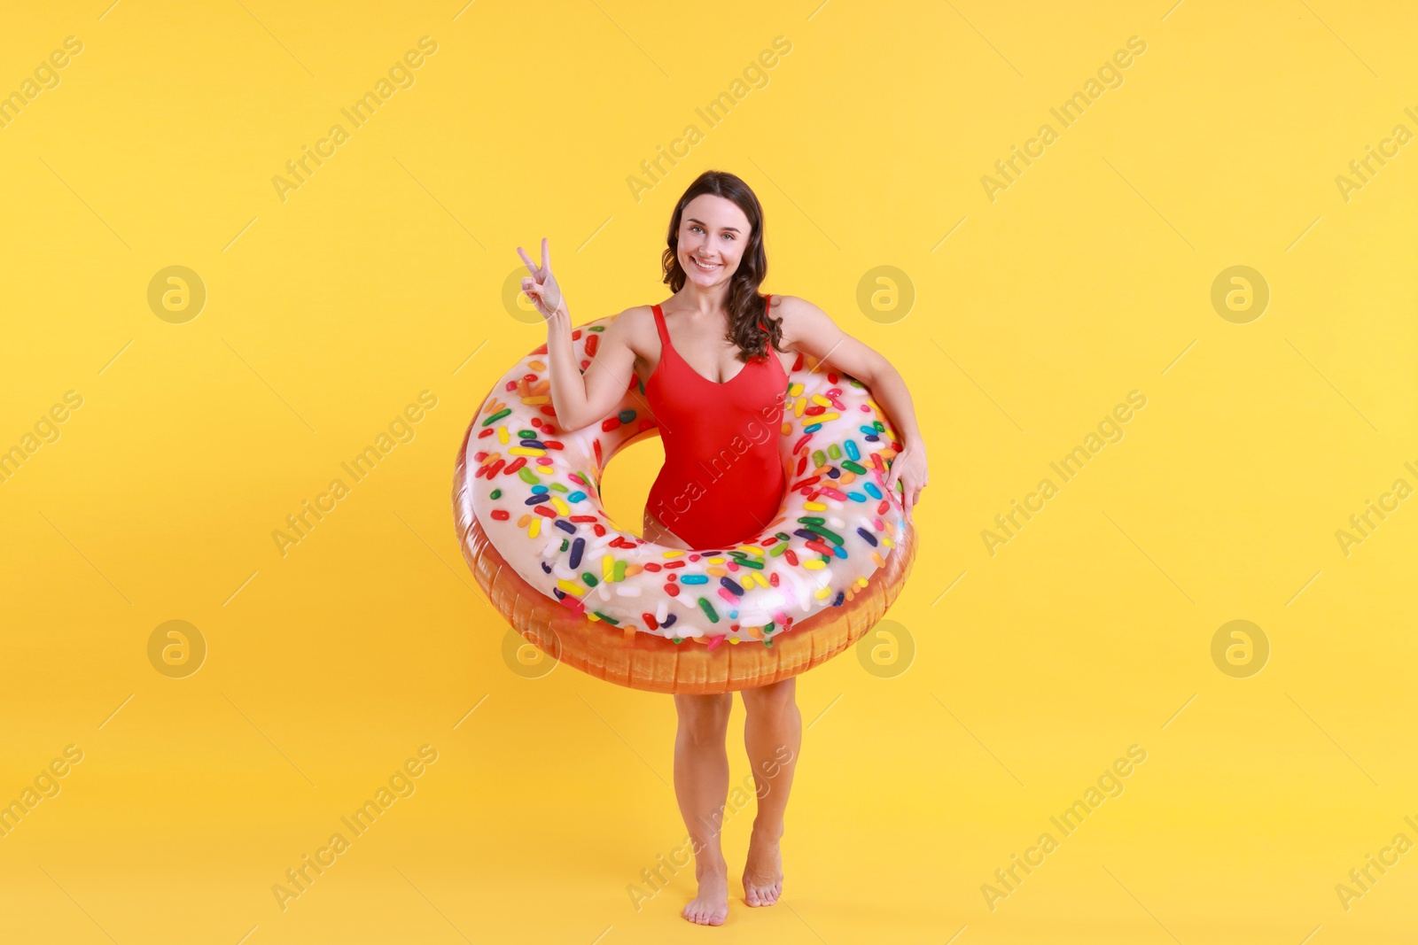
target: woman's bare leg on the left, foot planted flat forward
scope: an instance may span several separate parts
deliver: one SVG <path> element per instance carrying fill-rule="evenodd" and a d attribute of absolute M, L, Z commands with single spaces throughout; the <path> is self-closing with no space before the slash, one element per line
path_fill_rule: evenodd
<path fill-rule="evenodd" d="M 729 796 L 729 752 L 725 734 L 733 693 L 675 696 L 679 731 L 675 734 L 675 796 L 695 851 L 699 894 L 685 907 L 685 918 L 699 925 L 723 925 L 729 915 L 729 864 L 719 834 Z"/>

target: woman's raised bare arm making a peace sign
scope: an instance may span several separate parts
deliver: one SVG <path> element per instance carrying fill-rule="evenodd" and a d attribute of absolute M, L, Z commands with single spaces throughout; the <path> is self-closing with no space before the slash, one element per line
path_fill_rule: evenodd
<path fill-rule="evenodd" d="M 522 279 L 522 290 L 546 319 L 547 374 L 552 380 L 552 407 L 557 425 L 564 431 L 580 429 L 605 417 L 625 395 L 635 373 L 635 351 L 624 319 L 617 317 L 601 333 L 596 357 L 583 373 L 571 341 L 571 315 L 566 298 L 552 275 L 552 256 L 542 239 L 542 265 L 518 247 L 532 276 Z"/>

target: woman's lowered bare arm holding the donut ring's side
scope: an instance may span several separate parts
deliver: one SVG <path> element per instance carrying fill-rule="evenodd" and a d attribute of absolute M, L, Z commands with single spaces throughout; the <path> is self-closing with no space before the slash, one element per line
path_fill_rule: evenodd
<path fill-rule="evenodd" d="M 825 363 L 828 370 L 855 377 L 871 388 L 872 398 L 886 411 L 902 446 L 892 460 L 886 487 L 895 489 L 900 483 L 902 504 L 910 520 L 910 510 L 920 502 L 920 490 L 930 482 L 930 473 L 906 381 L 891 361 L 837 327 L 822 309 L 791 295 L 776 298 L 781 299 L 774 307 L 783 319 L 783 347 L 810 354 Z"/>

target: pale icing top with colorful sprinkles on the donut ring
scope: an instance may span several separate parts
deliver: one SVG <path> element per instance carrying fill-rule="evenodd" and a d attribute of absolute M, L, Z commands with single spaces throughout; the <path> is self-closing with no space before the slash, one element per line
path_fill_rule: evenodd
<path fill-rule="evenodd" d="M 571 333 L 581 370 L 610 320 Z M 710 650 L 773 646 L 864 592 L 896 548 L 905 523 L 885 477 L 900 443 L 858 381 L 798 356 L 778 439 L 788 492 L 777 519 L 732 548 L 683 551 L 623 531 L 601 506 L 605 463 L 655 428 L 638 378 L 605 419 L 567 432 L 556 424 L 545 357 L 543 344 L 482 404 L 465 456 L 469 492 L 508 564 L 588 621 Z"/>

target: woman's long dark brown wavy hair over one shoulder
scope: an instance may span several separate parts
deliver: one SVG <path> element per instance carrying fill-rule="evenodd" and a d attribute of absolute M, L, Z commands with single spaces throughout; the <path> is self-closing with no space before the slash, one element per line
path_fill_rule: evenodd
<path fill-rule="evenodd" d="M 685 205 L 700 194 L 732 200 L 749 218 L 749 245 L 743 249 L 739 268 L 729 276 L 729 295 L 725 299 L 729 330 L 725 332 L 725 340 L 739 346 L 740 361 L 767 357 L 770 347 L 781 351 L 783 319 L 770 317 L 769 300 L 759 295 L 759 286 L 769 273 L 769 258 L 763 251 L 763 207 L 753 190 L 739 177 L 722 170 L 706 170 L 689 184 L 669 218 L 668 247 L 661 255 L 661 266 L 665 271 L 662 282 L 671 292 L 678 293 L 685 288 L 688 276 L 679 265 L 679 222 Z"/>

